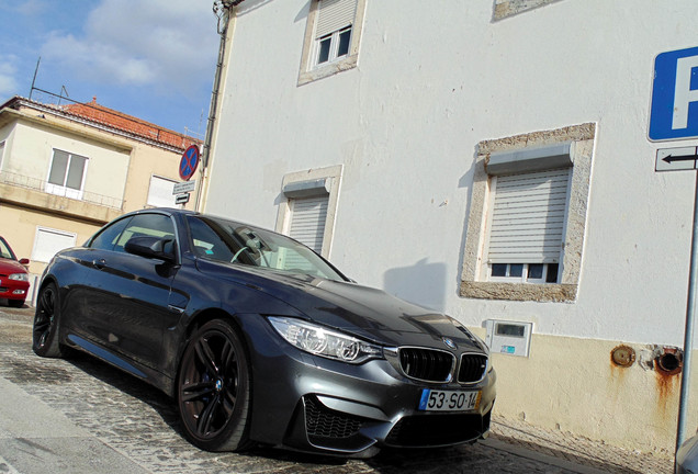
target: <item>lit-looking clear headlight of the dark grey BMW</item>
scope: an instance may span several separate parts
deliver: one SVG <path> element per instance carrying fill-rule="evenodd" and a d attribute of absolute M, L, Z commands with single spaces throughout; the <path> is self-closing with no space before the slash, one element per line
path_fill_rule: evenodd
<path fill-rule="evenodd" d="M 383 357 L 383 349 L 360 339 L 300 319 L 270 316 L 273 328 L 296 348 L 328 359 L 361 363 Z"/>

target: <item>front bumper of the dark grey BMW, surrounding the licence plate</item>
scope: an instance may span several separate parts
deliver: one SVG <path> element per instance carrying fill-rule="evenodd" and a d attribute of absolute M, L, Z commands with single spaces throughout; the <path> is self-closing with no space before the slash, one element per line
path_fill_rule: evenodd
<path fill-rule="evenodd" d="M 384 359 L 360 365 L 313 357 L 283 341 L 263 318 L 246 318 L 255 441 L 305 452 L 369 456 L 381 447 L 431 448 L 485 438 L 496 374 L 477 384 L 423 383 Z M 261 321 L 261 323 L 260 323 Z M 418 409 L 424 388 L 481 392 L 470 411 Z"/>

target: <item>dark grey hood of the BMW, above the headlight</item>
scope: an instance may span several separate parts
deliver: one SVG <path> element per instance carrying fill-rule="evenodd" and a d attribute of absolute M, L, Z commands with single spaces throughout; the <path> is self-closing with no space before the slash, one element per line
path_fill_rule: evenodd
<path fill-rule="evenodd" d="M 405 302 L 382 290 L 255 267 L 222 266 L 239 283 L 282 300 L 308 319 L 392 346 L 436 346 L 443 338 L 459 348 L 485 350 L 455 319 Z M 207 266 L 204 266 L 207 267 Z M 202 269 L 202 268 L 200 268 Z M 202 269 L 203 270 L 203 269 Z"/>

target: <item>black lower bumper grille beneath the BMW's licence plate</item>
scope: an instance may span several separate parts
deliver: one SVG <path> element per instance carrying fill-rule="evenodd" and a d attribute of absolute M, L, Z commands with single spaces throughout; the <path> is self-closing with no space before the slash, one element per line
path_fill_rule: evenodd
<path fill-rule="evenodd" d="M 403 448 L 428 448 L 474 441 L 489 429 L 489 413 L 414 416 L 401 419 L 385 443 Z"/>

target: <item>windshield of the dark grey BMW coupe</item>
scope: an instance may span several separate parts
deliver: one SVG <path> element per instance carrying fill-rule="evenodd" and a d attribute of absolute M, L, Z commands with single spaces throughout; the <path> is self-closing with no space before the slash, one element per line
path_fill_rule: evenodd
<path fill-rule="evenodd" d="M 345 281 L 313 250 L 280 234 L 209 216 L 188 216 L 199 257 Z"/>

